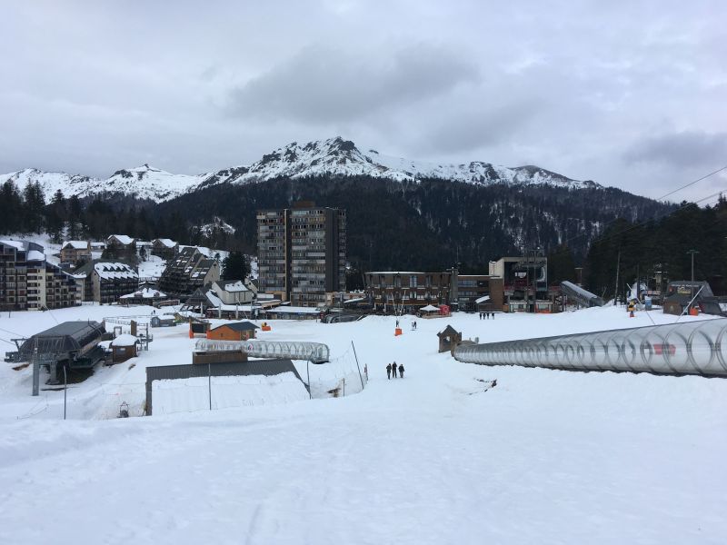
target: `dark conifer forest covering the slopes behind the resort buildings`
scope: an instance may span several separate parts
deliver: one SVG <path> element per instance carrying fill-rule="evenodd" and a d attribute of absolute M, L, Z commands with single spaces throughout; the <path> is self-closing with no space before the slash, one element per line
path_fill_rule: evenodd
<path fill-rule="evenodd" d="M 487 272 L 488 262 L 524 251 L 549 257 L 549 280 L 579 280 L 612 296 L 662 271 L 691 276 L 723 290 L 727 270 L 727 204 L 665 204 L 614 188 L 569 190 L 552 186 L 485 185 L 444 180 L 393 182 L 365 176 L 276 179 L 221 184 L 156 204 L 126 198 L 66 197 L 46 202 L 42 189 L 0 186 L 0 233 L 48 233 L 52 240 L 101 239 L 124 233 L 146 240 L 255 253 L 255 212 L 297 201 L 344 208 L 352 287 L 372 269 Z M 219 220 L 234 228 L 234 233 Z"/>

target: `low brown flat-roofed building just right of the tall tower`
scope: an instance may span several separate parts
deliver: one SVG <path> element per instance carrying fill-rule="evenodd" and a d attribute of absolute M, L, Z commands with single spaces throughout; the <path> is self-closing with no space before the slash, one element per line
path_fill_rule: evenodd
<path fill-rule="evenodd" d="M 450 304 L 453 271 L 375 271 L 364 274 L 373 309 L 382 312 L 417 312 L 433 304 Z"/>

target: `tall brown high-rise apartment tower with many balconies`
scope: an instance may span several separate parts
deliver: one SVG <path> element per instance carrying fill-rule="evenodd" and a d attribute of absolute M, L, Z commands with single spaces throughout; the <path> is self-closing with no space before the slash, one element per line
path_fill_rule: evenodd
<path fill-rule="evenodd" d="M 326 292 L 345 289 L 346 213 L 296 203 L 257 213 L 260 292 L 294 306 L 318 306 Z"/>

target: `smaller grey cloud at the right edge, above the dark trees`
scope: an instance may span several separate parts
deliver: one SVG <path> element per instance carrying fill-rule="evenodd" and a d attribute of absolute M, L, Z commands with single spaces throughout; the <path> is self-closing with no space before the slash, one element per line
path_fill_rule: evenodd
<path fill-rule="evenodd" d="M 645 138 L 623 155 L 627 163 L 661 163 L 705 169 L 727 163 L 727 133 L 685 131 Z"/>

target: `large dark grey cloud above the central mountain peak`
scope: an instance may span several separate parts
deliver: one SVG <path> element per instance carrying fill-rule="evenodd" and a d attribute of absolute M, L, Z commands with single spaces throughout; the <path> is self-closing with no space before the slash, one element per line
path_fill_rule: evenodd
<path fill-rule="evenodd" d="M 446 94 L 477 77 L 473 64 L 443 46 L 366 54 L 310 46 L 234 89 L 227 110 L 247 118 L 349 122 Z"/>

